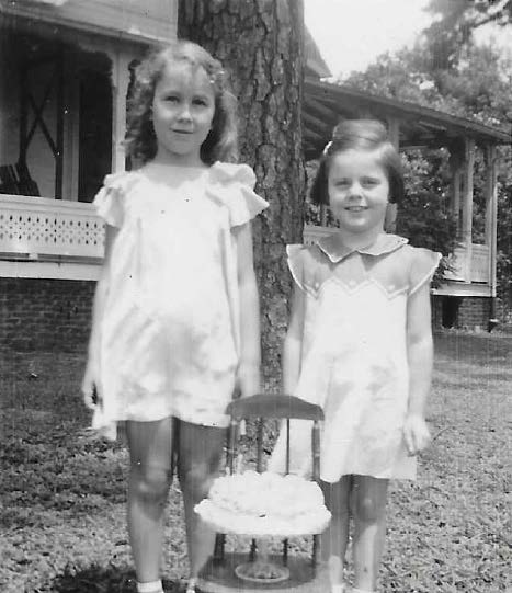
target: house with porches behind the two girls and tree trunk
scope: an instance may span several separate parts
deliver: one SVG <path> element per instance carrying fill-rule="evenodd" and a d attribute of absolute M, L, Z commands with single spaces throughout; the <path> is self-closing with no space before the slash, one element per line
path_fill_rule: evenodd
<path fill-rule="evenodd" d="M 130 72 L 148 47 L 175 37 L 177 10 L 175 0 L 0 0 L 1 343 L 84 350 L 104 249 L 103 226 L 90 202 L 106 173 L 126 167 L 122 140 Z M 496 296 L 494 148 L 510 138 L 320 82 L 329 72 L 309 36 L 306 48 L 307 158 L 319 155 L 340 117 L 362 114 L 388 122 L 400 148 L 441 140 L 457 147 L 453 207 L 460 212 L 463 241 L 439 296 L 462 296 L 485 324 Z M 476 142 L 488 155 L 483 246 L 471 240 Z M 308 241 L 325 232 L 305 230 Z"/>

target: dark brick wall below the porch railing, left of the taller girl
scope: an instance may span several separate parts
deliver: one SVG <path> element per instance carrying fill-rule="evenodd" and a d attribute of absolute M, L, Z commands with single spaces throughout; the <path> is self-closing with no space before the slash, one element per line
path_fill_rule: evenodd
<path fill-rule="evenodd" d="M 0 278 L 0 345 L 84 352 L 95 283 Z"/>

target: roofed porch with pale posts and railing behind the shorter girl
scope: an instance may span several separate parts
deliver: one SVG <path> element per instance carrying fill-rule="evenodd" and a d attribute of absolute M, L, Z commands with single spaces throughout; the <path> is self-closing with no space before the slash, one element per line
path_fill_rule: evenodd
<path fill-rule="evenodd" d="M 385 122 L 391 141 L 400 151 L 445 148 L 450 153 L 451 191 L 446 204 L 457 224 L 458 244 L 450 259 L 451 271 L 435 295 L 496 297 L 497 249 L 497 146 L 510 145 L 500 129 L 452 116 L 418 104 L 372 95 L 352 88 L 306 79 L 303 113 L 304 147 L 308 160 L 320 156 L 333 126 L 342 118 L 375 117 Z M 474 228 L 474 169 L 476 152 L 485 162 L 485 224 L 479 236 Z M 406 197 L 407 199 L 407 197 Z M 392 231 L 399 212 L 387 223 Z M 322 225 L 327 217 L 322 213 Z M 311 242 L 325 227 L 306 227 Z"/>

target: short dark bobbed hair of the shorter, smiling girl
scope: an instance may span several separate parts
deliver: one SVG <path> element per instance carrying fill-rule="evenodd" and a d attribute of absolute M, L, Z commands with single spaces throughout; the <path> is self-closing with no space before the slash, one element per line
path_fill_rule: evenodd
<path fill-rule="evenodd" d="M 405 194 L 401 160 L 389 141 L 384 124 L 377 119 L 345 119 L 332 132 L 332 140 L 323 149 L 311 186 L 311 202 L 329 205 L 329 164 L 331 158 L 344 150 L 378 151 L 377 160 L 389 182 L 389 202 L 399 203 Z"/>

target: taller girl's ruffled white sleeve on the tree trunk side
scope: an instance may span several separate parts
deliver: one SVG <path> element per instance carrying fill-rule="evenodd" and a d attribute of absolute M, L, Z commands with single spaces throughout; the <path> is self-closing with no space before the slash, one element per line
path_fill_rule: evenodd
<path fill-rule="evenodd" d="M 254 193 L 254 171 L 248 164 L 216 162 L 212 166 L 214 192 L 228 207 L 231 227 L 249 223 L 269 203 Z"/>

